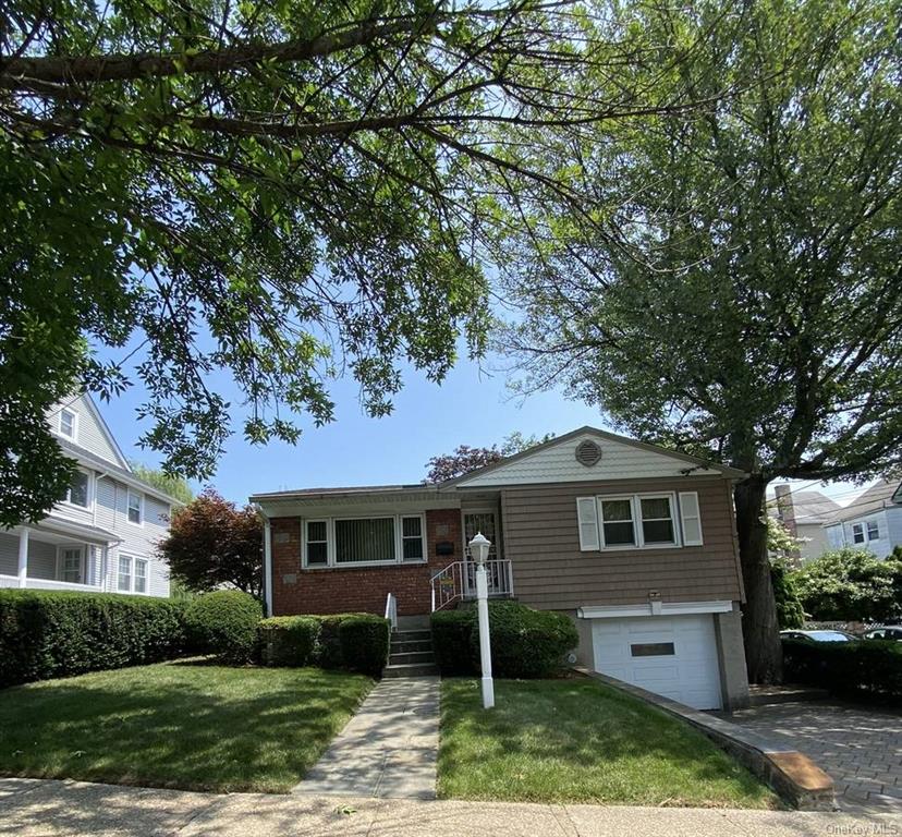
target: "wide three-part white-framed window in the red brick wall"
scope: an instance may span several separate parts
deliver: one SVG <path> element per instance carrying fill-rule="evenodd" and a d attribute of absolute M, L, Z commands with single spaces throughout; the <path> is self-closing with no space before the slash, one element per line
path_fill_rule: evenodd
<path fill-rule="evenodd" d="M 422 514 L 328 518 L 304 521 L 304 566 L 349 567 L 426 560 Z"/>

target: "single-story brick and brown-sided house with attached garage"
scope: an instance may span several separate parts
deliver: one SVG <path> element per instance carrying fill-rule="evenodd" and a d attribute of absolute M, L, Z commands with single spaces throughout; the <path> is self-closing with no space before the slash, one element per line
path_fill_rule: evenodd
<path fill-rule="evenodd" d="M 732 484 L 744 474 L 582 427 L 438 485 L 254 495 L 270 615 L 427 615 L 490 592 L 570 616 L 576 658 L 698 708 L 748 698 Z"/>

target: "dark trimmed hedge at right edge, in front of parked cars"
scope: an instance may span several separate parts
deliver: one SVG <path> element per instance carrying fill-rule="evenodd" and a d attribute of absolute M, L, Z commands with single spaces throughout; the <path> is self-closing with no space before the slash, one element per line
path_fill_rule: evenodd
<path fill-rule="evenodd" d="M 787 681 L 818 686 L 837 695 L 866 693 L 898 702 L 902 700 L 902 643 L 783 640 L 783 674 Z"/>

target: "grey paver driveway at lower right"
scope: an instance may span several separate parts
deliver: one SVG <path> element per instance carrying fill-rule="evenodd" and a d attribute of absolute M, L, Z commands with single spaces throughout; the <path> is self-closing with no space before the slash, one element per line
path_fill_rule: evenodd
<path fill-rule="evenodd" d="M 840 808 L 902 814 L 902 713 L 815 701 L 756 706 L 724 717 L 790 739 L 830 774 Z"/>

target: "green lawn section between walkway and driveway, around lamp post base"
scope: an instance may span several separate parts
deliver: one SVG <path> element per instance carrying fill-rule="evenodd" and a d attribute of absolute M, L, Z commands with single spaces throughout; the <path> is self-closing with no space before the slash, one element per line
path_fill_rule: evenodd
<path fill-rule="evenodd" d="M 439 796 L 522 802 L 773 808 L 707 738 L 587 679 L 442 682 Z"/>

